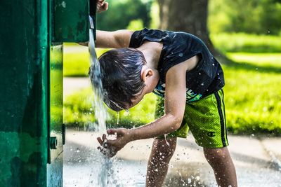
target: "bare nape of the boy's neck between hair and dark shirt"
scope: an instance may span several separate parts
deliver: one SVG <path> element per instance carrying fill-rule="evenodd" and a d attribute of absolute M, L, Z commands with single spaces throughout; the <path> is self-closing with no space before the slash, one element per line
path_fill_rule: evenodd
<path fill-rule="evenodd" d="M 141 52 L 145 56 L 148 67 L 157 69 L 162 48 L 162 43 L 147 41 L 137 49 L 141 50 Z"/>

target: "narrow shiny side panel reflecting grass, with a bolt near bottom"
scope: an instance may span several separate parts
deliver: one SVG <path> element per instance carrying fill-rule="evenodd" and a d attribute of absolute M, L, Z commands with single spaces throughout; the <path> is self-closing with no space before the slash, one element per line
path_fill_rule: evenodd
<path fill-rule="evenodd" d="M 63 184 L 63 43 L 50 43 L 48 186 Z"/>

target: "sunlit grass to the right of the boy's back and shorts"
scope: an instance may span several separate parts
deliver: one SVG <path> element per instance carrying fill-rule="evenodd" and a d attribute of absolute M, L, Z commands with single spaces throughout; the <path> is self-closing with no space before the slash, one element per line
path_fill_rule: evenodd
<path fill-rule="evenodd" d="M 239 64 L 238 67 L 223 66 L 226 77 L 226 116 L 230 131 L 235 134 L 280 133 L 281 62 L 271 61 L 278 61 L 280 55 L 232 53 L 228 57 Z M 251 69 L 248 68 L 249 64 Z"/>

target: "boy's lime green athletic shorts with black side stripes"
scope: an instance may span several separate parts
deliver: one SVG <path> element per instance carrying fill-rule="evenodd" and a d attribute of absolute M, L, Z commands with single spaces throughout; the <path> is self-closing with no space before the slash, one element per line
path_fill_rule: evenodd
<path fill-rule="evenodd" d="M 158 97 L 155 118 L 163 115 L 164 98 Z M 228 146 L 223 90 L 219 90 L 196 102 L 187 103 L 185 105 L 185 114 L 181 127 L 175 132 L 167 134 L 167 137 L 186 138 L 189 129 L 199 146 L 204 148 L 222 148 Z"/>

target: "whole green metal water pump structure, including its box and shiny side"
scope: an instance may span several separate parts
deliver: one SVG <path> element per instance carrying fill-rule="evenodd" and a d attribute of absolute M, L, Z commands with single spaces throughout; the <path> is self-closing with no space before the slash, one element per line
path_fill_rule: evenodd
<path fill-rule="evenodd" d="M 89 0 L 1 1 L 0 186 L 63 186 L 63 41 L 88 41 L 88 16 Z"/>

